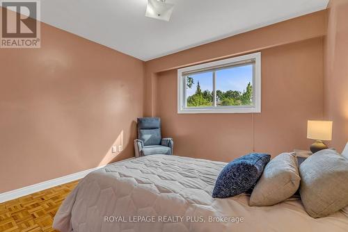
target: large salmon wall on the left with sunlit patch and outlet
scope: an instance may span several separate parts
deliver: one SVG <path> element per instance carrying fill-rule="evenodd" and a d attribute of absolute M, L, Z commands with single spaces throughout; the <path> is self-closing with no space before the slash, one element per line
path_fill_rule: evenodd
<path fill-rule="evenodd" d="M 40 49 L 0 49 L 0 192 L 134 156 L 143 61 L 47 24 L 41 33 Z"/>

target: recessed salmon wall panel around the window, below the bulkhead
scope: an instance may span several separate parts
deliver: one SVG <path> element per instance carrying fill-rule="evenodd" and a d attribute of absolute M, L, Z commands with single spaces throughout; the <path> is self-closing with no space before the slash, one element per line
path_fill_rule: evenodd
<path fill-rule="evenodd" d="M 177 70 L 161 72 L 157 115 L 175 154 L 229 161 L 248 152 L 273 156 L 308 149 L 307 119 L 323 115 L 323 39 L 262 50 L 262 113 L 177 114 Z"/>

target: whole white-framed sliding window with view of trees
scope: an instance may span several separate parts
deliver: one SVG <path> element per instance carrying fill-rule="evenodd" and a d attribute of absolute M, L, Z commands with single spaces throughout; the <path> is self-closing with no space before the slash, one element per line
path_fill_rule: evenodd
<path fill-rule="evenodd" d="M 261 53 L 177 70 L 177 113 L 260 113 Z"/>

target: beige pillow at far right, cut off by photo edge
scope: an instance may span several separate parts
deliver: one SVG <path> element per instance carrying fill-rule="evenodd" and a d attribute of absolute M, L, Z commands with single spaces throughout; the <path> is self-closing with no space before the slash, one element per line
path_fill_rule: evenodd
<path fill-rule="evenodd" d="M 348 160 L 337 151 L 316 152 L 299 171 L 301 200 L 311 217 L 325 217 L 348 205 Z"/>

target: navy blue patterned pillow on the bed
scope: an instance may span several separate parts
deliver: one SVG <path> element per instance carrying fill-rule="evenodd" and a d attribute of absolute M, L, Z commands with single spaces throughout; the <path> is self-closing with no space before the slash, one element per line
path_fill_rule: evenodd
<path fill-rule="evenodd" d="M 213 197 L 234 197 L 253 188 L 269 163 L 269 154 L 248 154 L 228 163 L 216 179 Z"/>

